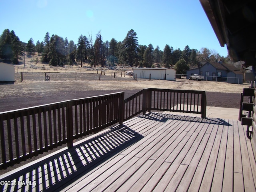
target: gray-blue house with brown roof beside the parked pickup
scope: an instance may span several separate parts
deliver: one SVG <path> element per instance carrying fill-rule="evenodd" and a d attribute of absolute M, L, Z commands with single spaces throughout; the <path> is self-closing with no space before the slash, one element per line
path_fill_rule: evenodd
<path fill-rule="evenodd" d="M 207 81 L 221 81 L 242 84 L 244 74 L 232 64 L 220 62 L 199 62 L 198 68 L 187 70 L 187 79 L 193 74 L 204 76 Z"/>

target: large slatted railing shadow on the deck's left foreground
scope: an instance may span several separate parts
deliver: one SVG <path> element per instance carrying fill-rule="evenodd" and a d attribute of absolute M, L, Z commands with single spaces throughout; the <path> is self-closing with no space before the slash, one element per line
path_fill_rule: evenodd
<path fill-rule="evenodd" d="M 13 185 L 1 185 L 0 191 L 56 191 L 68 186 L 73 180 L 90 174 L 98 162 L 107 162 L 122 148 L 126 148 L 143 138 L 142 135 L 124 125 L 114 126 L 111 130 L 73 148 L 45 157 L 26 168 L 6 176 L 0 181 L 10 181 Z M 92 177 L 90 179 L 93 182 Z"/>

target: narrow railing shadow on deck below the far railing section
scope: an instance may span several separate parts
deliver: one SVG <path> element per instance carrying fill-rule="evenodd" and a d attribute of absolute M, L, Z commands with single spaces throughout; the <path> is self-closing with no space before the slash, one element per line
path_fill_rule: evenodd
<path fill-rule="evenodd" d="M 224 126 L 232 126 L 225 120 L 221 118 L 200 118 L 193 116 L 185 115 L 176 115 L 176 114 L 164 114 L 159 112 L 151 112 L 146 115 L 140 115 L 142 118 L 147 118 L 154 121 L 166 122 L 167 120 L 180 120 L 180 121 L 191 121 L 191 122 L 202 122 L 206 124 L 219 124 Z"/>

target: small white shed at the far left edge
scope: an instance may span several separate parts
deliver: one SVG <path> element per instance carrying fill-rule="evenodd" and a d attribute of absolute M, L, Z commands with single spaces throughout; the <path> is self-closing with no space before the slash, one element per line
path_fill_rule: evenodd
<path fill-rule="evenodd" d="M 0 62 L 0 82 L 14 82 L 15 67 L 11 64 Z"/>

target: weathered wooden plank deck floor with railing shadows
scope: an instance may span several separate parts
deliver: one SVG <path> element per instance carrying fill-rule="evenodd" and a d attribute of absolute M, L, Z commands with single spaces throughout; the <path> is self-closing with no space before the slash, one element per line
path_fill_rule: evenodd
<path fill-rule="evenodd" d="M 245 130 L 236 120 L 152 112 L 0 176 L 16 183 L 0 190 L 256 191 Z"/>

